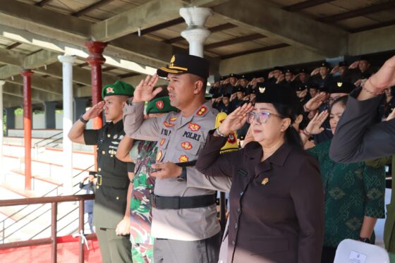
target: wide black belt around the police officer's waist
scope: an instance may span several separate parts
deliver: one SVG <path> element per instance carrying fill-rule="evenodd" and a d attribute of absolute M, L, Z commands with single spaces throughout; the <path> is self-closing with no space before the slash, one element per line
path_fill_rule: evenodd
<path fill-rule="evenodd" d="M 185 209 L 208 207 L 215 204 L 216 195 L 197 195 L 197 196 L 158 196 L 151 194 L 150 201 L 152 207 L 156 209 Z"/>

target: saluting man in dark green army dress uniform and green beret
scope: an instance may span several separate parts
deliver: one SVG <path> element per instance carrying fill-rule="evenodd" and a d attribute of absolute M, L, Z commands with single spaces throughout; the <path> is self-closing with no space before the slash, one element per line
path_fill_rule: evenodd
<path fill-rule="evenodd" d="M 127 192 L 130 187 L 127 164 L 116 159 L 123 131 L 123 106 L 133 95 L 133 87 L 116 81 L 105 85 L 103 101 L 80 116 L 68 133 L 70 140 L 83 145 L 97 145 L 97 189 L 93 209 L 93 225 L 103 262 L 132 262 L 128 236 L 116 233 L 118 224 L 123 224 L 127 207 Z M 104 111 L 107 121 L 99 130 L 87 130 L 85 124 Z"/>

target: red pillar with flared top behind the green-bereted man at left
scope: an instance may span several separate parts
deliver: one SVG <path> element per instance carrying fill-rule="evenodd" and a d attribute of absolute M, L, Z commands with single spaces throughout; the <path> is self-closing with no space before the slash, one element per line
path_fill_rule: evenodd
<path fill-rule="evenodd" d="M 107 47 L 107 43 L 87 41 L 85 46 L 89 50 L 90 56 L 87 57 L 87 63 L 90 64 L 92 70 L 92 105 L 102 100 L 102 65 L 104 64 L 103 51 Z M 103 126 L 103 118 L 99 116 L 93 121 L 93 128 L 99 129 Z"/>

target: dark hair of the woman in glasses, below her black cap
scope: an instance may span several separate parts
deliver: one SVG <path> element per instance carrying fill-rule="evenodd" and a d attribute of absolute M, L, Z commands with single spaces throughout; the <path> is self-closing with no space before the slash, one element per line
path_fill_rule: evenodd
<path fill-rule="evenodd" d="M 285 104 L 273 103 L 274 109 L 279 113 L 282 118 L 291 118 L 291 125 L 285 131 L 285 140 L 288 145 L 303 149 L 302 140 L 300 140 L 299 133 L 293 128 L 292 123 L 295 122 L 298 116 L 296 107 Z"/>

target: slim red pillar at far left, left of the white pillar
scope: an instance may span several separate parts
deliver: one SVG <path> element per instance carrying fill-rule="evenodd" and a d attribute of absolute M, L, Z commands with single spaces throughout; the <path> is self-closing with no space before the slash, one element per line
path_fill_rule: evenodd
<path fill-rule="evenodd" d="M 25 137 L 25 190 L 32 189 L 32 75 L 25 70 L 23 76 L 23 135 Z"/>

